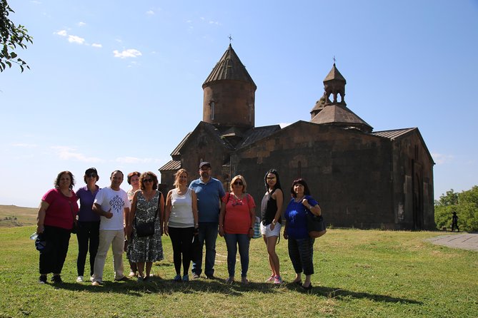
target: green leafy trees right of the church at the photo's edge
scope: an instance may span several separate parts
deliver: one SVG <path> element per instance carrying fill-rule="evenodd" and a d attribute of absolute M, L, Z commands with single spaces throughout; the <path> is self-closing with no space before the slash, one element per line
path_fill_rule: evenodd
<path fill-rule="evenodd" d="M 435 201 L 435 223 L 437 228 L 451 227 L 452 213 L 457 212 L 460 230 L 478 230 L 478 186 L 455 193 L 452 190 Z"/>

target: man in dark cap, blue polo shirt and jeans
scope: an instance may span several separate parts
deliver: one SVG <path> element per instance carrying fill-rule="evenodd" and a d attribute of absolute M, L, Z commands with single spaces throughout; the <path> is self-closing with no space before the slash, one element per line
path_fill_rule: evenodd
<path fill-rule="evenodd" d="M 214 262 L 216 260 L 216 239 L 219 225 L 219 210 L 224 197 L 224 188 L 221 181 L 211 178 L 211 163 L 206 161 L 199 164 L 201 178 L 194 180 L 189 188 L 197 195 L 197 210 L 199 213 L 199 245 L 201 257 L 192 260 L 192 277 L 199 278 L 202 272 L 202 248 L 206 244 L 206 258 L 204 274 L 214 279 Z"/>

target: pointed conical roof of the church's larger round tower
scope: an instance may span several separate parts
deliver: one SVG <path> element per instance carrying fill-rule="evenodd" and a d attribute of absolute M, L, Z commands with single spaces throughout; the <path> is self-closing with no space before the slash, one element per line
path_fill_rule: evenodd
<path fill-rule="evenodd" d="M 219 62 L 216 63 L 216 66 L 214 66 L 206 78 L 206 81 L 202 84 L 202 87 L 204 88 L 209 82 L 221 80 L 245 81 L 256 86 L 254 81 L 252 81 L 252 77 L 247 73 L 246 67 L 242 64 L 241 60 L 239 60 L 239 56 L 234 52 L 231 44 L 229 44 L 229 48 L 224 52 Z"/>

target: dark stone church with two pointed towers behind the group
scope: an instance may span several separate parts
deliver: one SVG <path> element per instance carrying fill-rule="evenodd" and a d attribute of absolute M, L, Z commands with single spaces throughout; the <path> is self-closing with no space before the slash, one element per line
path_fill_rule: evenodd
<path fill-rule="evenodd" d="M 334 63 L 309 121 L 255 127 L 257 86 L 229 45 L 202 85 L 202 121 L 159 168 L 162 186 L 172 187 L 179 168 L 198 178 L 199 163 L 209 161 L 225 190 L 244 175 L 259 214 L 264 174 L 275 168 L 284 208 L 292 180 L 304 178 L 328 225 L 434 229 L 434 161 L 418 128 L 374 132 L 347 107 L 346 83 Z"/>

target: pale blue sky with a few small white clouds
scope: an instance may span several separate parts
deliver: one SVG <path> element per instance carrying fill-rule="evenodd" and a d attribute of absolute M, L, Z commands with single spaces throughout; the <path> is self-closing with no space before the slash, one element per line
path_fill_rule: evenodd
<path fill-rule="evenodd" d="M 256 126 L 310 120 L 335 57 L 374 131 L 419 128 L 435 198 L 478 184 L 477 0 L 9 4 L 34 43 L 16 50 L 30 70 L 0 73 L 2 205 L 37 207 L 61 170 L 75 190 L 89 167 L 101 187 L 116 169 L 159 175 L 229 42 L 257 85 Z"/>

